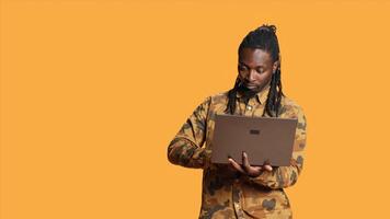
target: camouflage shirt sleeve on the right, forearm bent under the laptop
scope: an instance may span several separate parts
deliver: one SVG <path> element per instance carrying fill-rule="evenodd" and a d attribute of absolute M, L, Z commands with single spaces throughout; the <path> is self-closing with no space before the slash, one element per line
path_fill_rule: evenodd
<path fill-rule="evenodd" d="M 285 188 L 292 186 L 303 168 L 303 149 L 306 147 L 306 117 L 300 107 L 295 107 L 290 117 L 298 117 L 292 158 L 289 166 L 273 166 L 271 172 L 264 170 L 256 177 L 245 176 L 249 181 L 269 188 Z"/>

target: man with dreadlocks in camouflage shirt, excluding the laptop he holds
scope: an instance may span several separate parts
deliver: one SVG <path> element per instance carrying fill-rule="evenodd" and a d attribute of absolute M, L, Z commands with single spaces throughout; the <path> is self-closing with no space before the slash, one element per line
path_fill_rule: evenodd
<path fill-rule="evenodd" d="M 251 31 L 239 46 L 233 89 L 206 97 L 168 147 L 171 163 L 203 169 L 199 218 L 292 218 L 284 191 L 292 186 L 303 166 L 306 117 L 301 107 L 282 92 L 280 55 L 276 27 Z M 210 162 L 216 114 L 298 118 L 289 166 Z M 204 146 L 205 143 L 205 146 Z"/>

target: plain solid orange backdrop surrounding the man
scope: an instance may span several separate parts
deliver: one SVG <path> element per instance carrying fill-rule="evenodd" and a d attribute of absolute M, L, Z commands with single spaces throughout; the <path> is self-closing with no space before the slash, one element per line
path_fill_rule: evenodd
<path fill-rule="evenodd" d="M 200 170 L 167 147 L 277 26 L 308 118 L 295 218 L 388 215 L 390 3 L 1 1 L 1 218 L 196 218 Z"/>

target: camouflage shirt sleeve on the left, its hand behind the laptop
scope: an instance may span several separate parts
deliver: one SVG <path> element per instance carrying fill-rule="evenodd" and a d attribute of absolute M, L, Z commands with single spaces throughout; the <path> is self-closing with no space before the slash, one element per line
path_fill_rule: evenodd
<path fill-rule="evenodd" d="M 204 100 L 190 115 L 168 147 L 168 160 L 176 165 L 205 169 L 211 152 L 203 147 L 211 97 Z"/>

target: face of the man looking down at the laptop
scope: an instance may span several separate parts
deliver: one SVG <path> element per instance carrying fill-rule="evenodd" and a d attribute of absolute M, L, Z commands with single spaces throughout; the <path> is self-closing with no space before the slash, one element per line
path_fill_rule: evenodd
<path fill-rule="evenodd" d="M 277 65 L 277 61 L 272 61 L 267 51 L 260 48 L 244 48 L 239 57 L 239 77 L 244 87 L 259 92 L 271 82 Z"/>

